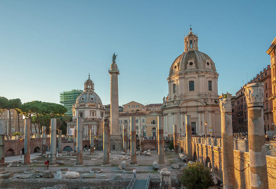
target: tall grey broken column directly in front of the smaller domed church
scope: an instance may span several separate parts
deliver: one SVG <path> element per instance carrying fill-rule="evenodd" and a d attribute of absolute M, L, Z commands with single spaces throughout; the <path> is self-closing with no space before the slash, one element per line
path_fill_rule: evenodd
<path fill-rule="evenodd" d="M 76 165 L 84 165 L 82 162 L 82 117 L 77 118 L 77 161 Z"/>

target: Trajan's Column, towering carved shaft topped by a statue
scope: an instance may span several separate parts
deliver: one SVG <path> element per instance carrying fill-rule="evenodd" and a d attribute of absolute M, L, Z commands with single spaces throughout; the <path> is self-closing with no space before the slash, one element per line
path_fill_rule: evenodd
<path fill-rule="evenodd" d="M 119 133 L 119 100 L 118 100 L 118 75 L 120 71 L 115 62 L 117 55 L 112 56 L 112 64 L 108 73 L 110 74 L 110 147 L 122 150 L 123 139 Z"/>

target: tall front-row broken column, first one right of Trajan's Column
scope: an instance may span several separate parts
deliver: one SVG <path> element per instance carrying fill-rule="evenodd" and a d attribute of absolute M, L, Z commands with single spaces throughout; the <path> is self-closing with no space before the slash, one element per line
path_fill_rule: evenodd
<path fill-rule="evenodd" d="M 130 164 L 137 165 L 136 161 L 136 124 L 135 117 L 130 117 Z"/>

